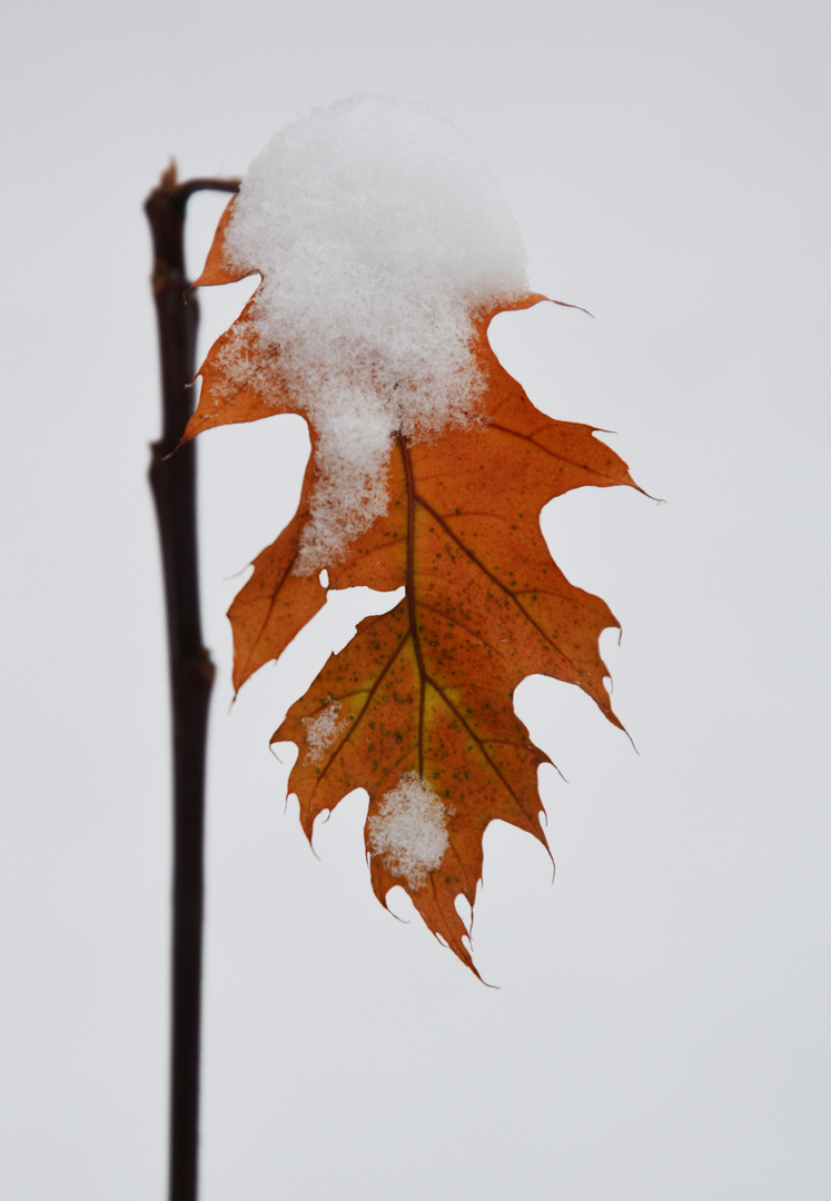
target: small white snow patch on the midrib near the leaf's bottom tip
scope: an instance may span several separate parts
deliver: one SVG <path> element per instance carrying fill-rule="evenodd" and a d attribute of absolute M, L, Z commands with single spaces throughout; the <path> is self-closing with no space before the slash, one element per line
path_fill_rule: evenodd
<path fill-rule="evenodd" d="M 367 821 L 370 852 L 411 889 L 420 888 L 450 846 L 447 817 L 430 785 L 418 772 L 408 771 Z"/>

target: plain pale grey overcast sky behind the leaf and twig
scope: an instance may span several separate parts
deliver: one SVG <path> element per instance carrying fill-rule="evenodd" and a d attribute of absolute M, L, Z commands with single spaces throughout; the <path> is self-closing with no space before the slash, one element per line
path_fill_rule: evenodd
<path fill-rule="evenodd" d="M 159 384 L 142 202 L 240 174 L 357 91 L 484 151 L 531 283 L 531 399 L 658 504 L 555 502 L 638 751 L 521 686 L 557 864 L 492 827 L 474 951 L 375 901 L 365 802 L 311 854 L 268 740 L 340 627 L 231 710 L 232 579 L 292 512 L 298 418 L 205 435 L 202 1201 L 791 1201 L 829 1122 L 827 5 L 79 0 L 14 6 L 5 112 L 0 1193 L 166 1188 L 169 749 L 145 485 Z M 222 198 L 197 198 L 196 274 Z M 203 348 L 244 299 L 205 297 Z M 340 629 L 340 634 L 339 634 Z M 408 919 L 407 904 L 395 901 Z"/>

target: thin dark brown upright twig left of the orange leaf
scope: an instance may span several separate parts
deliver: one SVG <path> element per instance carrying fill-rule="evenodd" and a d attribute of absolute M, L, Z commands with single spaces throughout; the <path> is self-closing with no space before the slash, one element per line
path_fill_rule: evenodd
<path fill-rule="evenodd" d="M 185 209 L 197 191 L 237 192 L 233 180 L 162 175 L 144 209 L 153 233 L 153 293 L 162 372 L 162 436 L 150 488 L 161 539 L 173 727 L 173 974 L 169 1201 L 196 1201 L 204 859 L 204 779 L 214 664 L 202 645 L 196 544 L 196 450 L 168 459 L 191 414 L 199 307 L 185 275 Z"/>

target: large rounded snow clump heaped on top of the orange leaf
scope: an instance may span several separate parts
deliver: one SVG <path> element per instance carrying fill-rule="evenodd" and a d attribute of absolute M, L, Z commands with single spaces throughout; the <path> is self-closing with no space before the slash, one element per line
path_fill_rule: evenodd
<path fill-rule="evenodd" d="M 318 435 L 295 568 L 310 575 L 385 512 L 396 432 L 418 441 L 477 419 L 472 317 L 527 293 L 525 250 L 450 121 L 355 96 L 294 121 L 255 159 L 226 255 L 263 276 L 261 382 L 287 390 Z"/>

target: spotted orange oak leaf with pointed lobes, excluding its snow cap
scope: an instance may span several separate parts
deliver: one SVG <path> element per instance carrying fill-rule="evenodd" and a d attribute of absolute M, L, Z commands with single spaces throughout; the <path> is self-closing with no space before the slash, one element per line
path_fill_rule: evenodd
<path fill-rule="evenodd" d="M 223 265 L 233 203 L 196 286 L 239 277 Z M 602 631 L 617 622 L 557 568 L 539 514 L 575 488 L 636 485 L 591 426 L 534 408 L 486 336 L 496 312 L 544 299 L 532 293 L 474 315 L 473 353 L 485 382 L 477 420 L 423 441 L 395 437 L 388 510 L 328 574 L 335 588 L 403 586 L 405 596 L 359 625 L 271 740 L 298 745 L 289 790 L 310 839 L 319 814 L 353 789 L 367 790 L 376 896 L 385 904 L 389 890 L 402 886 L 428 927 L 477 975 L 455 902 L 461 895 L 474 903 L 485 829 L 500 819 L 548 849 L 537 770 L 550 760 L 515 716 L 514 689 L 531 674 L 549 675 L 578 685 L 621 724 L 598 650 Z M 208 354 L 184 441 L 216 425 L 298 411 L 268 384 L 263 364 L 277 351 L 259 342 L 255 301 Z M 325 602 L 317 573 L 298 570 L 317 483 L 313 426 L 310 432 L 298 512 L 255 560 L 228 614 L 235 688 L 277 658 Z"/>

